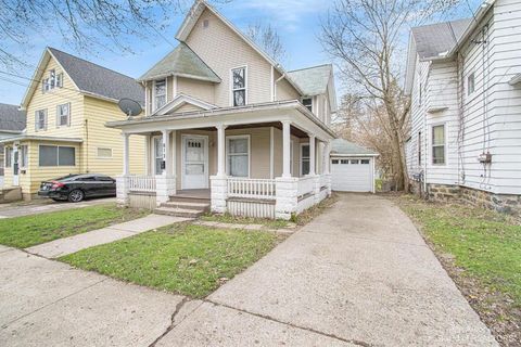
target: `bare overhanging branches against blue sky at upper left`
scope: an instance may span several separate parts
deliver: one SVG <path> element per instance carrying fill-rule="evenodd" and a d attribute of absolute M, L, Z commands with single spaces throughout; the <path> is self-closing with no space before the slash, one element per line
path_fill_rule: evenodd
<path fill-rule="evenodd" d="M 214 2 L 229 2 L 216 0 Z M 132 52 L 131 41 L 157 39 L 189 0 L 0 0 L 0 66 L 25 63 L 24 51 L 60 35 L 78 51 Z"/>

